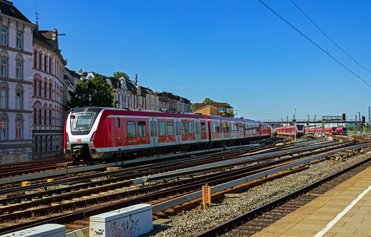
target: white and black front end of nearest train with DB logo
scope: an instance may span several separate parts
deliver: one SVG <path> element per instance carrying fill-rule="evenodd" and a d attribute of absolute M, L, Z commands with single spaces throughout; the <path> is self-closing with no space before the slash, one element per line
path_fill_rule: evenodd
<path fill-rule="evenodd" d="M 67 160 L 99 159 L 93 144 L 104 108 L 85 107 L 69 113 L 65 124 L 65 158 Z"/>

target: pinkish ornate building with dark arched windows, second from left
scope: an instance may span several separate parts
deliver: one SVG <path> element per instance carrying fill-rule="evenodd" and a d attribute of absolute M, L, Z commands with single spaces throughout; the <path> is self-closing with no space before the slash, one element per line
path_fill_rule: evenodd
<path fill-rule="evenodd" d="M 66 66 L 58 48 L 58 31 L 33 32 L 33 151 L 63 149 L 64 74 Z"/>

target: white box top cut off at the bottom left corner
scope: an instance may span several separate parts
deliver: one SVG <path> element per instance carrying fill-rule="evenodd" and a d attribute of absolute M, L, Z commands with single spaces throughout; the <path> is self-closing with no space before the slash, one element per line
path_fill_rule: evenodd
<path fill-rule="evenodd" d="M 66 237 L 66 227 L 58 224 L 45 224 L 32 228 L 3 234 L 0 237 Z"/>

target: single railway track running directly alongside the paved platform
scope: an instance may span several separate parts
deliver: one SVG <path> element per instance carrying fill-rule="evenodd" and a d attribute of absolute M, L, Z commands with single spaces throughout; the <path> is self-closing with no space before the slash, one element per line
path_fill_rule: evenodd
<path fill-rule="evenodd" d="M 326 178 L 323 178 L 313 184 L 303 187 L 275 201 L 267 203 L 248 213 L 238 216 L 219 226 L 211 228 L 196 237 L 248 237 L 270 226 L 282 217 L 287 216 L 292 211 L 304 206 L 306 203 L 321 196 L 330 189 L 341 184 L 345 180 L 353 177 L 355 174 L 370 167 L 371 158 L 367 158 L 351 167 L 341 170 Z"/>

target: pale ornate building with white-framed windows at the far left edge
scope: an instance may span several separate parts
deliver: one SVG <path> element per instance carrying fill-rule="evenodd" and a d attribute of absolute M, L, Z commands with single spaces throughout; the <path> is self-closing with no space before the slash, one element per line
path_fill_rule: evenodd
<path fill-rule="evenodd" d="M 32 24 L 0 1 L 0 154 L 32 151 Z"/>

